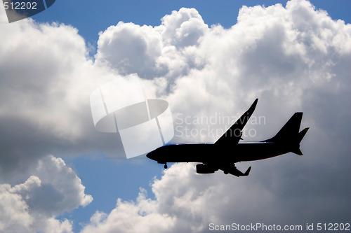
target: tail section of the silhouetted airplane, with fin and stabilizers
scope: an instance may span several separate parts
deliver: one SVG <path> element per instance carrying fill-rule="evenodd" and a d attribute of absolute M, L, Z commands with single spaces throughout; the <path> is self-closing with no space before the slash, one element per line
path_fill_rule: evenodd
<path fill-rule="evenodd" d="M 303 113 L 295 113 L 290 118 L 288 122 L 279 130 L 279 132 L 272 137 L 272 139 L 265 140 L 266 142 L 274 142 L 274 143 L 284 143 L 293 146 L 291 149 L 292 153 L 296 153 L 297 155 L 303 155 L 300 150 L 300 142 L 303 140 L 303 137 L 307 133 L 308 129 L 305 128 L 301 132 L 300 124 L 303 118 Z"/>

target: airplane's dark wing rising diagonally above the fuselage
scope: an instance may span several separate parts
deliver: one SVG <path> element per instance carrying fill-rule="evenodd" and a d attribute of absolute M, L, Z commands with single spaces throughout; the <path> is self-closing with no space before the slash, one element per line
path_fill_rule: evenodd
<path fill-rule="evenodd" d="M 246 111 L 241 117 L 237 120 L 237 122 L 230 127 L 230 129 L 223 134 L 220 139 L 216 141 L 216 145 L 233 145 L 239 143 L 239 140 L 241 139 L 242 132 L 241 130 L 244 129 L 244 126 L 246 123 L 249 121 L 253 111 L 255 111 L 256 104 L 257 104 L 258 99 L 256 99 L 251 107 L 249 108 L 248 111 Z"/>

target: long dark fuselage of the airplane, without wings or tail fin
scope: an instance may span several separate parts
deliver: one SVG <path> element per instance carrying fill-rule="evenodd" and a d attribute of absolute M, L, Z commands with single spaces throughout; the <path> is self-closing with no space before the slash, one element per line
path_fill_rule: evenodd
<path fill-rule="evenodd" d="M 238 143 L 232 150 L 230 146 L 214 143 L 176 144 L 162 146 L 147 154 L 147 157 L 161 164 L 166 162 L 241 162 L 263 160 L 289 153 L 286 144 L 274 142 Z"/>

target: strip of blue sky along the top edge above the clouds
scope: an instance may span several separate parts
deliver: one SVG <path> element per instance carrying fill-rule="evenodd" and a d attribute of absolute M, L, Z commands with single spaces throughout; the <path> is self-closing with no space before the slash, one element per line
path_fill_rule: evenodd
<path fill-rule="evenodd" d="M 196 8 L 208 25 L 221 24 L 232 27 L 237 22 L 241 6 L 270 6 L 276 3 L 286 5 L 286 1 L 67 1 L 55 2 L 55 7 L 34 15 L 39 22 L 62 22 L 79 29 L 79 34 L 96 48 L 98 33 L 119 21 L 133 22 L 139 25 L 157 26 L 161 17 L 182 7 Z M 328 11 L 334 19 L 350 22 L 351 3 L 347 0 L 311 1 L 317 9 Z M 132 10 L 133 9 L 133 10 Z M 93 16 L 92 16 L 93 15 Z"/>

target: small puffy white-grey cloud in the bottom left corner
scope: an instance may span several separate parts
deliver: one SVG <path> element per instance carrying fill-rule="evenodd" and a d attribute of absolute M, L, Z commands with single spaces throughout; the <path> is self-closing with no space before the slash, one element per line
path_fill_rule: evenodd
<path fill-rule="evenodd" d="M 71 221 L 55 219 L 93 201 L 62 159 L 39 160 L 27 181 L 0 185 L 0 232 L 72 232 Z"/>

